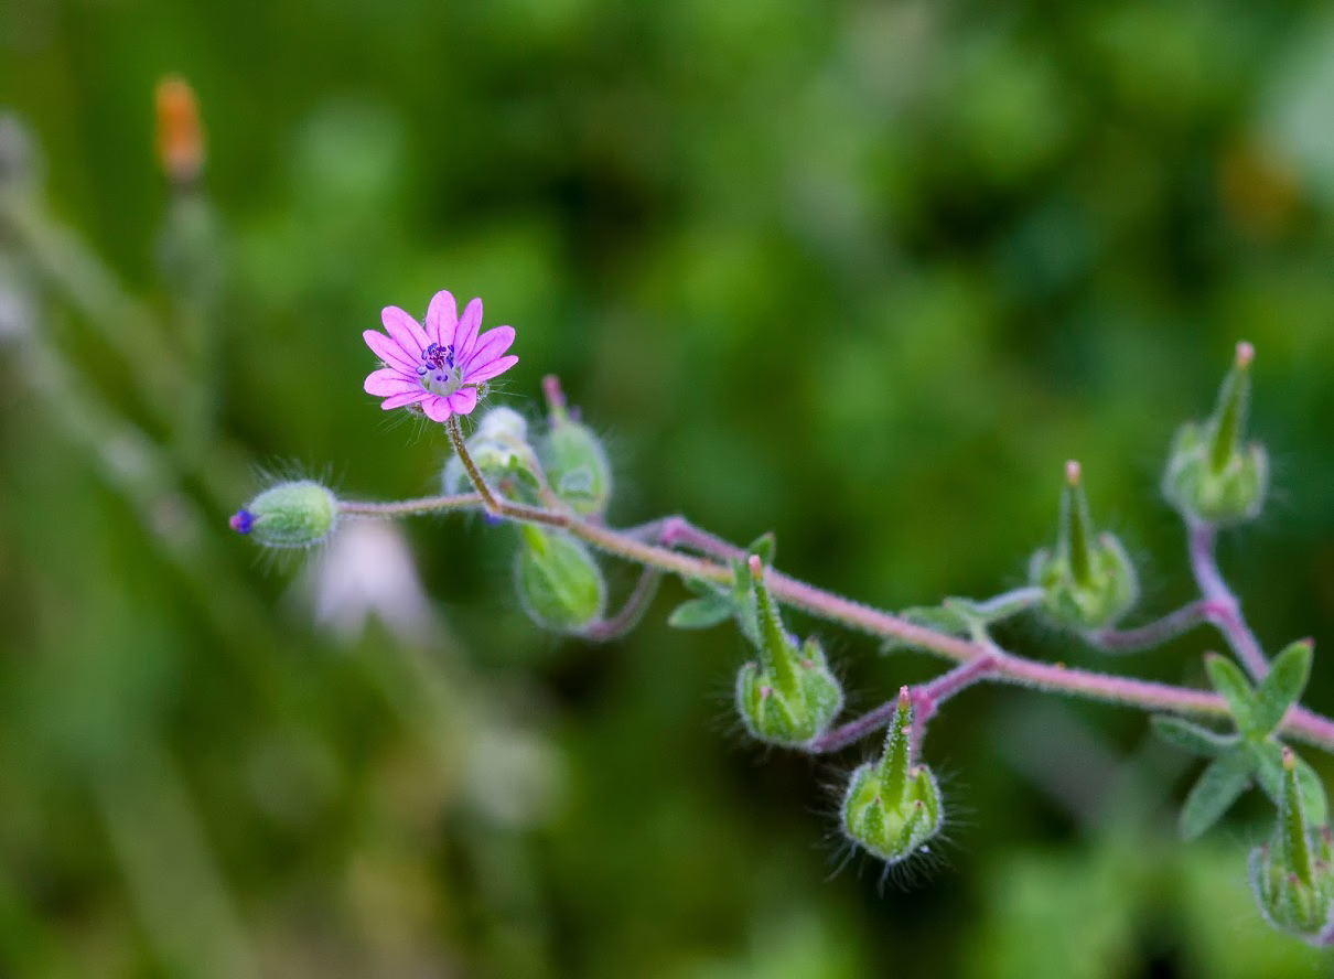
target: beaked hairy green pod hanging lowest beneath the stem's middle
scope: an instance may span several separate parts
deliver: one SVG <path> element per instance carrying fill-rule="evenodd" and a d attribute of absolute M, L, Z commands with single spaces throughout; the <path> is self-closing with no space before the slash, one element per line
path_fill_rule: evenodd
<path fill-rule="evenodd" d="M 931 770 L 912 763 L 912 700 L 899 690 L 884 754 L 852 772 L 842 807 L 843 832 L 886 863 L 899 863 L 940 831 L 944 810 Z"/>

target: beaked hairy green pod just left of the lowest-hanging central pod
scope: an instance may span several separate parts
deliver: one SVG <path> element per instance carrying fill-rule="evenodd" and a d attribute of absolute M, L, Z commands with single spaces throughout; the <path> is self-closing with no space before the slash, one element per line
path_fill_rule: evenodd
<path fill-rule="evenodd" d="M 759 618 L 759 660 L 736 675 L 736 710 L 756 739 L 804 744 L 824 734 L 843 710 L 843 687 L 815 638 L 798 648 L 783 628 L 756 555 L 751 555 L 750 575 Z"/>

